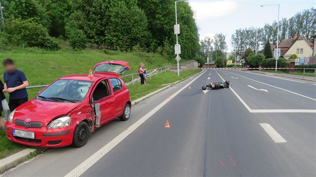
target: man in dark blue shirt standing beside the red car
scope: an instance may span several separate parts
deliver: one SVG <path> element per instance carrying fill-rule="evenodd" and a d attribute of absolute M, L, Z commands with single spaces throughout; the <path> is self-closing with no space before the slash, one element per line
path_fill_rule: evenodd
<path fill-rule="evenodd" d="M 28 92 L 26 87 L 29 85 L 23 71 L 17 69 L 12 59 L 7 58 L 3 61 L 6 69 L 4 73 L 5 86 L 3 91 L 10 94 L 9 107 L 13 111 L 19 105 L 28 101 Z"/>

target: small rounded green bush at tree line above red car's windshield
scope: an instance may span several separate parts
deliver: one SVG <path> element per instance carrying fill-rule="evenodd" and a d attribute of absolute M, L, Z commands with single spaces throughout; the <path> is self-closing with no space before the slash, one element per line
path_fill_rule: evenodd
<path fill-rule="evenodd" d="M 66 34 L 67 34 L 69 43 L 74 50 L 82 50 L 86 48 L 88 39 L 81 29 L 77 29 L 77 28 L 67 29 Z"/>

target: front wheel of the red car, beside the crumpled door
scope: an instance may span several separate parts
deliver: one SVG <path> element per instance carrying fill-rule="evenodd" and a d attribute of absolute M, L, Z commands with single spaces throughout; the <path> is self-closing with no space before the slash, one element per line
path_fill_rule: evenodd
<path fill-rule="evenodd" d="M 88 124 L 84 121 L 80 122 L 74 132 L 72 145 L 75 147 L 82 147 L 88 141 L 89 129 Z"/>

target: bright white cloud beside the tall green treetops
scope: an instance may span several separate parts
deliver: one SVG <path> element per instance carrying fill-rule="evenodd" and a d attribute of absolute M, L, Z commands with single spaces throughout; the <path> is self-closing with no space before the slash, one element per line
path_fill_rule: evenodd
<path fill-rule="evenodd" d="M 232 0 L 189 1 L 189 4 L 195 12 L 196 20 L 225 16 L 237 9 L 237 3 Z"/>

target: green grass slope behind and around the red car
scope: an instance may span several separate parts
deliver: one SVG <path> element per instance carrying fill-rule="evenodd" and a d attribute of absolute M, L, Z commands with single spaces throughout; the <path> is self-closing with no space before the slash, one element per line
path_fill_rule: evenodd
<path fill-rule="evenodd" d="M 14 59 L 19 69 L 23 70 L 28 77 L 30 85 L 49 84 L 55 79 L 74 73 L 87 73 L 89 69 L 101 61 L 124 60 L 128 61 L 131 69 L 125 74 L 137 73 L 139 62 L 144 62 L 147 69 L 175 65 L 174 60 L 168 60 L 159 54 L 142 52 L 119 52 L 109 50 L 85 50 L 85 51 L 46 51 L 36 48 L 5 50 L 0 52 L 0 59 L 10 57 Z M 173 63 L 171 63 L 173 62 Z M 200 69 L 181 72 L 178 77 L 176 73 L 153 75 L 148 78 L 148 85 L 140 83 L 128 85 L 132 100 L 162 88 L 164 83 L 175 82 L 194 73 Z M 2 75 L 2 74 L 1 74 Z M 0 77 L 3 80 L 3 76 Z M 34 97 L 43 88 L 28 89 L 29 98 Z M 9 95 L 7 94 L 7 98 Z M 4 114 L 3 114 L 4 115 Z M 14 143 L 7 139 L 6 133 L 0 129 L 0 159 L 18 152 L 28 146 Z"/>

